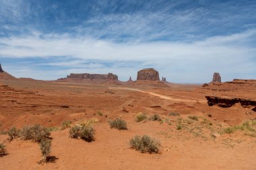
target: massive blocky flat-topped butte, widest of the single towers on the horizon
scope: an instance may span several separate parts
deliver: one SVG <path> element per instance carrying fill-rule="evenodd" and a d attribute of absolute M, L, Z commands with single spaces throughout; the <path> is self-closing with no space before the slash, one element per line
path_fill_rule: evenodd
<path fill-rule="evenodd" d="M 137 80 L 160 81 L 159 73 L 155 69 L 142 69 L 137 73 Z"/>

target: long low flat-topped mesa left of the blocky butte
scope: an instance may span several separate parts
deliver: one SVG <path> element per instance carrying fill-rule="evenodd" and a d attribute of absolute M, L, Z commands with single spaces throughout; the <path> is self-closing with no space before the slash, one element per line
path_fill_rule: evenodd
<path fill-rule="evenodd" d="M 89 74 L 89 73 L 82 73 L 82 74 L 71 73 L 70 75 L 67 76 L 67 79 L 118 80 L 118 76 L 114 75 L 113 73 L 108 73 L 107 75 L 104 75 L 104 74 Z"/>

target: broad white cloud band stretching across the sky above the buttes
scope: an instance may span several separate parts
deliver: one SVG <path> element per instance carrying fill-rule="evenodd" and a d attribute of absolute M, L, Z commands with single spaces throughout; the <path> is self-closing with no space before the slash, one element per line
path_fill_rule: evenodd
<path fill-rule="evenodd" d="M 49 62 L 51 66 L 69 66 L 81 68 L 81 62 L 86 60 L 102 60 L 112 62 L 106 67 L 101 63 L 86 64 L 86 69 L 68 71 L 86 71 L 90 73 L 117 73 L 121 80 L 126 80 L 143 67 L 155 67 L 160 75 L 174 82 L 205 82 L 210 81 L 212 73 L 219 71 L 224 80 L 232 78 L 256 78 L 256 48 L 249 46 L 254 40 L 255 30 L 216 36 L 197 42 L 127 42 L 117 43 L 106 40 L 96 40 L 86 37 L 72 37 L 68 34 L 40 34 L 32 36 L 0 38 L 0 57 L 9 58 L 51 58 L 69 56 L 73 61 Z M 128 68 L 119 65 L 127 62 Z M 129 65 L 137 62 L 137 65 Z M 28 72 L 30 73 L 30 72 Z M 252 74 L 254 73 L 254 75 Z M 238 75 L 241 77 L 232 77 Z M 53 78 L 54 76 L 51 75 Z M 36 77 L 34 77 L 36 78 Z M 56 77 L 57 78 L 57 77 Z M 44 76 L 47 78 L 47 75 Z"/>

